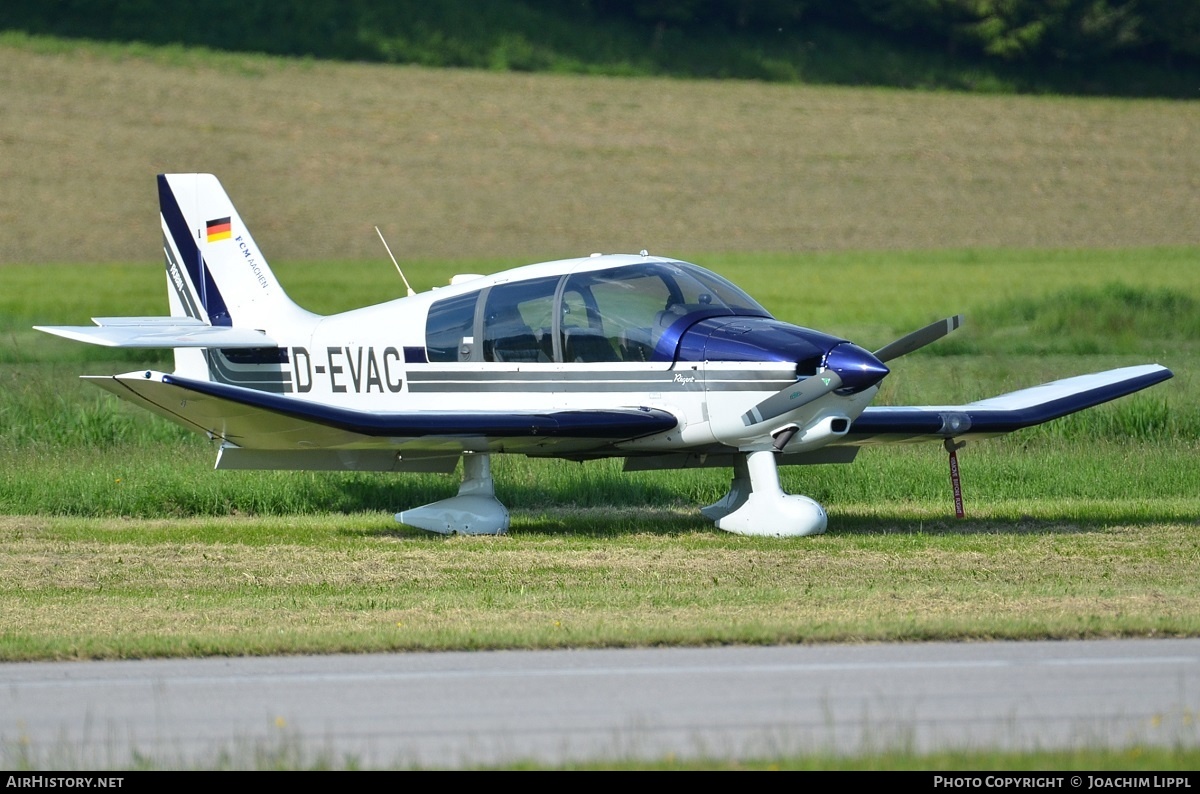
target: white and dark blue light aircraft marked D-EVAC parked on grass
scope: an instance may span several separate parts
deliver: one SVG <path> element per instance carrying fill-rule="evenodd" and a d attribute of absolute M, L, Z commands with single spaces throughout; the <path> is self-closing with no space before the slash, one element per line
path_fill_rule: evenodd
<path fill-rule="evenodd" d="M 922 440 L 953 455 L 965 439 L 1172 374 L 1132 366 L 962 405 L 876 407 L 887 362 L 961 317 L 872 353 L 778 320 L 721 276 L 644 251 L 456 276 L 318 315 L 284 293 L 214 175 L 161 174 L 158 199 L 170 315 L 36 327 L 174 349 L 172 373 L 86 378 L 208 435 L 218 469 L 452 473 L 462 461 L 456 495 L 396 515 L 436 533 L 506 531 L 491 457 L 515 453 L 623 457 L 626 470 L 732 468 L 728 493 L 701 511 L 718 528 L 820 534 L 824 509 L 784 493 L 779 465 L 848 463 L 863 446 Z"/>

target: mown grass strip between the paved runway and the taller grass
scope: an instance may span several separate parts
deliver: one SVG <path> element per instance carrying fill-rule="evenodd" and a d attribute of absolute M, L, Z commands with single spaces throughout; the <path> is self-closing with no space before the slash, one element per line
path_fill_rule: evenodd
<path fill-rule="evenodd" d="M 503 539 L 358 511 L 0 522 L 0 656 L 1196 636 L 1195 499 L 833 510 L 805 541 L 653 505 L 516 510 Z M 1048 506 L 1048 503 L 1050 506 Z M 151 597 L 152 596 L 152 597 Z"/>

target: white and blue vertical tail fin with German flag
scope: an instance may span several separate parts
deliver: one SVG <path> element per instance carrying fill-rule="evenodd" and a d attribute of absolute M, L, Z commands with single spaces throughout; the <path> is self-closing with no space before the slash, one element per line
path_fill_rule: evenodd
<path fill-rule="evenodd" d="M 257 329 L 312 317 L 283 291 L 216 176 L 160 174 L 158 211 L 173 315 Z"/>

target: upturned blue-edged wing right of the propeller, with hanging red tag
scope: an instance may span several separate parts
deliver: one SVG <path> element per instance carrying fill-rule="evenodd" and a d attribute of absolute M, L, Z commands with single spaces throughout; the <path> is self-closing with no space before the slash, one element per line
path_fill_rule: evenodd
<path fill-rule="evenodd" d="M 1132 395 L 1172 377 L 1145 365 L 1066 378 L 965 405 L 869 407 L 840 444 L 896 444 L 946 438 L 988 438 L 1042 425 Z"/>

